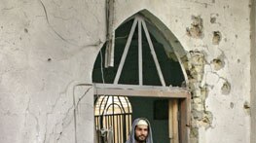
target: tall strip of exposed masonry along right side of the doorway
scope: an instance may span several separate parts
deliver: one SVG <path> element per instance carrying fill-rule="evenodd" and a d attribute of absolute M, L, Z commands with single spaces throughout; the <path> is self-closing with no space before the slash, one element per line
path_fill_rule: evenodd
<path fill-rule="evenodd" d="M 182 58 L 182 62 L 188 75 L 188 87 L 192 93 L 190 140 L 191 143 L 198 143 L 199 127 L 204 126 L 208 128 L 213 119 L 211 112 L 205 109 L 205 99 L 208 94 L 208 89 L 205 85 L 201 86 L 206 62 L 204 54 L 198 51 L 191 51 L 186 57 Z"/>

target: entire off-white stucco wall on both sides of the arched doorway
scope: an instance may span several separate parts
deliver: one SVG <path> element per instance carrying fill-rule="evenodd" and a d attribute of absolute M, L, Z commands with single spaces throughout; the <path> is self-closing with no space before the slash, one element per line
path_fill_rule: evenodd
<path fill-rule="evenodd" d="M 249 143 L 250 1 L 114 5 L 115 27 L 146 9 L 187 52 L 192 143 Z M 0 2 L 0 142 L 93 142 L 91 69 L 105 16 L 104 1 Z"/>

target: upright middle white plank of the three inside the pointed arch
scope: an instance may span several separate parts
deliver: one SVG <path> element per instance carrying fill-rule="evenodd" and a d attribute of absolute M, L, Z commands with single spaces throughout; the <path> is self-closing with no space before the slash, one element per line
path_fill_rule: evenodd
<path fill-rule="evenodd" d="M 141 19 L 138 20 L 138 70 L 139 70 L 139 85 L 143 85 L 143 65 L 142 65 L 142 32 L 141 32 Z"/>

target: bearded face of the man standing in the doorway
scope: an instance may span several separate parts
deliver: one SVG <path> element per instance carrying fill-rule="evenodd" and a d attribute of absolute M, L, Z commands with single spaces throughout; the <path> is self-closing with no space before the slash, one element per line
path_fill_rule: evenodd
<path fill-rule="evenodd" d="M 135 127 L 135 139 L 139 143 L 146 142 L 148 137 L 148 125 L 136 125 Z"/>

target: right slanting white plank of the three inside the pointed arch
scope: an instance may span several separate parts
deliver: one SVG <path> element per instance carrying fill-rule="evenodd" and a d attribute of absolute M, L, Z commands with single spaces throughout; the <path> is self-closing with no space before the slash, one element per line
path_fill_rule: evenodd
<path fill-rule="evenodd" d="M 144 31 L 145 31 L 145 34 L 146 34 L 146 37 L 147 37 L 147 40 L 148 40 L 148 43 L 149 43 L 149 48 L 151 50 L 151 54 L 153 56 L 153 59 L 155 61 L 155 64 L 156 64 L 156 67 L 157 67 L 157 70 L 158 70 L 160 81 L 161 81 L 162 85 L 165 87 L 165 79 L 164 79 L 164 76 L 163 76 L 159 61 L 158 61 L 157 54 L 155 53 L 154 46 L 153 46 L 153 43 L 151 41 L 147 26 L 146 26 L 146 23 L 145 23 L 144 20 L 142 20 L 142 26 L 144 28 Z"/>

